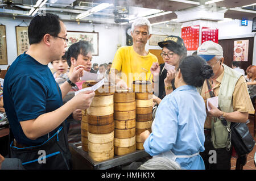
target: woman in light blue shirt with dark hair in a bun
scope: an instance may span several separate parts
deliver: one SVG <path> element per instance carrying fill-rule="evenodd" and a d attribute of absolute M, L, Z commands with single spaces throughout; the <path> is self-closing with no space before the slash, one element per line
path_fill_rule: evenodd
<path fill-rule="evenodd" d="M 199 152 L 204 151 L 207 115 L 196 87 L 212 74 L 212 68 L 199 56 L 181 60 L 175 73 L 176 89 L 159 104 L 152 133 L 141 133 L 148 154 L 176 161 L 181 169 L 205 169 Z"/>

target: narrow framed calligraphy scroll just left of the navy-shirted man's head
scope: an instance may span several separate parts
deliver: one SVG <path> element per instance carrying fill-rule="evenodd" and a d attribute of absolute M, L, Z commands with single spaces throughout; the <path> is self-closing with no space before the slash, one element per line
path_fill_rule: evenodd
<path fill-rule="evenodd" d="M 28 27 L 16 26 L 16 43 L 17 43 L 17 56 L 23 54 L 28 50 L 29 41 L 28 41 Z"/>

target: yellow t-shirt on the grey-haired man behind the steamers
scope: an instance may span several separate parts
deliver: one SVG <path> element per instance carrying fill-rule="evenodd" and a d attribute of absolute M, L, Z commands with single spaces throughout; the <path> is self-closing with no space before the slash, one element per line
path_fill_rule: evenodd
<path fill-rule="evenodd" d="M 111 69 L 117 69 L 119 77 L 131 87 L 133 81 L 152 80 L 150 68 L 153 62 L 158 62 L 158 58 L 152 53 L 141 56 L 134 51 L 133 46 L 121 47 L 115 53 Z"/>

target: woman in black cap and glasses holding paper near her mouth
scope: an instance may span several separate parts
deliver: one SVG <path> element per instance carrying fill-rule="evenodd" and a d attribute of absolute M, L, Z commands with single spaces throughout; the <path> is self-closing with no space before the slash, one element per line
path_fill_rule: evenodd
<path fill-rule="evenodd" d="M 155 115 L 154 110 L 156 110 L 164 96 L 175 90 L 175 70 L 179 66 L 181 58 L 187 56 L 187 48 L 185 48 L 184 41 L 179 36 L 167 36 L 158 45 L 163 48 L 161 56 L 164 64 L 159 66 L 158 62 L 154 62 L 150 68 L 153 74 L 152 82 L 154 83 L 153 101 L 156 103 L 153 108 L 153 118 Z"/>

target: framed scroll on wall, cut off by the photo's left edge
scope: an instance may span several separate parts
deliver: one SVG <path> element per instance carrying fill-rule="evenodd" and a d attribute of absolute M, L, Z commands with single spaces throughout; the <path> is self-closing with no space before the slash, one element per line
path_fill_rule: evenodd
<path fill-rule="evenodd" d="M 7 65 L 7 47 L 5 25 L 0 25 L 0 65 Z"/>

